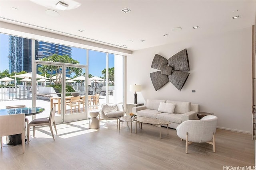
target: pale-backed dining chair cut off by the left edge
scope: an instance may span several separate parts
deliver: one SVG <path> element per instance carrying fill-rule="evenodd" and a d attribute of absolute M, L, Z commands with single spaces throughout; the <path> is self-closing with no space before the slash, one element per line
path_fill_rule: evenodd
<path fill-rule="evenodd" d="M 22 151 L 25 152 L 25 114 L 13 114 L 0 116 L 0 143 L 3 147 L 3 136 L 21 133 Z"/>

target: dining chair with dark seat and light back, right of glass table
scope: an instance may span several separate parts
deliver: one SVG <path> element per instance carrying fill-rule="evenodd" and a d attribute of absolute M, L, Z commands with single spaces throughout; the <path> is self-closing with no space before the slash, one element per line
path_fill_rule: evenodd
<path fill-rule="evenodd" d="M 56 131 L 56 135 L 58 135 L 57 133 L 57 129 L 56 129 L 56 125 L 55 125 L 55 111 L 56 111 L 56 107 L 53 107 L 50 111 L 50 116 L 49 119 L 48 118 L 38 118 L 38 119 L 34 119 L 32 120 L 29 124 L 28 124 L 28 143 L 29 143 L 29 128 L 30 126 L 33 126 L 33 137 L 35 137 L 35 126 L 43 126 L 43 125 L 48 125 L 50 127 L 51 133 L 52 133 L 52 138 L 54 139 L 54 134 L 52 131 L 52 124 L 54 125 L 54 129 Z"/>

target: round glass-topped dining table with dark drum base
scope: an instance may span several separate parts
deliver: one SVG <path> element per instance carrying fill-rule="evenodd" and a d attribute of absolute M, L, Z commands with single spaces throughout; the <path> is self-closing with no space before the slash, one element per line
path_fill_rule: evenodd
<path fill-rule="evenodd" d="M 36 114 L 42 113 L 44 110 L 45 110 L 45 108 L 42 108 L 42 107 L 23 107 L 23 108 L 12 108 L 12 109 L 0 109 L 0 116 L 12 115 L 12 114 L 22 114 L 22 113 L 25 114 L 25 116 L 30 116 L 30 115 L 36 115 Z M 25 131 L 25 133 L 26 133 L 26 131 Z M 7 145 L 21 144 L 21 134 L 8 136 L 6 144 Z"/>

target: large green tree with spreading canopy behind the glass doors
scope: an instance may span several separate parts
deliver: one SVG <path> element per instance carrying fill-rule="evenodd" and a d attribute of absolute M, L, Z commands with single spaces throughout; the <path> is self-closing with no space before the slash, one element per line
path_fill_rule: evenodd
<path fill-rule="evenodd" d="M 70 64 L 79 64 L 78 61 L 72 59 L 68 55 L 57 55 L 54 54 L 49 57 L 44 57 L 40 59 L 42 61 L 52 61 L 52 62 L 59 62 L 59 63 L 70 63 Z M 82 68 L 76 68 L 76 67 L 67 67 L 67 69 L 70 72 L 74 72 L 76 76 L 80 76 L 82 74 Z M 40 71 L 42 74 L 45 74 L 46 72 L 50 74 L 50 79 L 52 81 L 53 74 L 56 74 L 56 84 L 61 83 L 61 73 L 62 68 L 60 66 L 53 66 L 53 65 L 41 65 L 38 67 L 38 71 Z"/>

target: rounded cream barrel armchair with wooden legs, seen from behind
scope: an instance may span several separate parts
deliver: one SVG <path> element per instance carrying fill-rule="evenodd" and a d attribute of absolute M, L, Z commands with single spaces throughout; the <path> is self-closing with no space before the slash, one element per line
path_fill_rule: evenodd
<path fill-rule="evenodd" d="M 193 142 L 209 143 L 213 145 L 213 152 L 215 152 L 217 120 L 218 117 L 207 115 L 200 120 L 187 120 L 178 125 L 177 135 L 181 140 L 186 140 L 186 153 L 188 153 L 188 145 Z"/>

